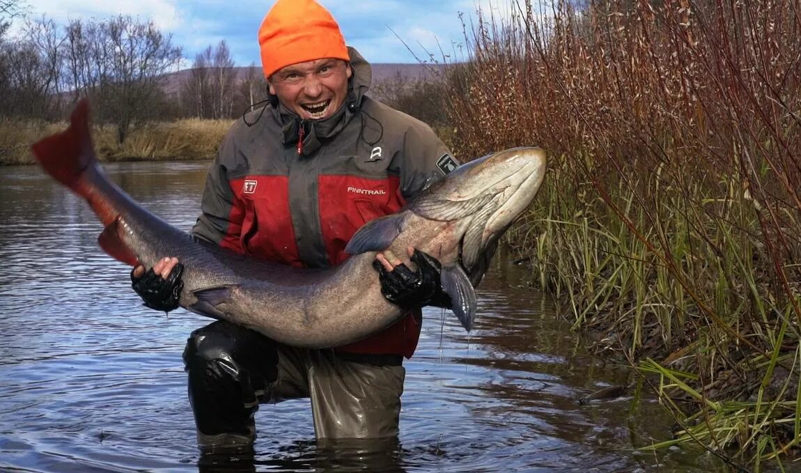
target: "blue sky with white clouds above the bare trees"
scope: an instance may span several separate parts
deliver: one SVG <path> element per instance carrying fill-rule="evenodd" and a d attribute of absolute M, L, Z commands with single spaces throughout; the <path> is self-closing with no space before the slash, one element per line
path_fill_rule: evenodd
<path fill-rule="evenodd" d="M 340 23 L 348 46 L 371 63 L 466 59 L 460 13 L 468 28 L 477 10 L 505 16 L 508 0 L 318 0 Z M 272 0 L 26 0 L 30 16 L 66 25 L 73 18 L 131 15 L 152 20 L 183 47 L 185 67 L 207 46 L 225 40 L 237 66 L 258 65 L 257 32 Z M 16 22 L 19 23 L 19 22 Z M 15 24 L 14 27 L 18 25 Z M 411 50 L 411 51 L 409 51 Z"/>

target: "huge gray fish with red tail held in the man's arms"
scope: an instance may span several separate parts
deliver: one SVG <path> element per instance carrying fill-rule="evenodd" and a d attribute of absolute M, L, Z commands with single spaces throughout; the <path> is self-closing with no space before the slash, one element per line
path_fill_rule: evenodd
<path fill-rule="evenodd" d="M 403 312 L 381 295 L 372 261 L 380 251 L 405 258 L 409 247 L 441 262 L 453 312 L 471 329 L 476 295 L 467 273 L 529 206 L 545 175 L 539 148 L 509 149 L 463 164 L 400 212 L 360 228 L 346 249 L 352 257 L 343 264 L 297 269 L 198 241 L 139 206 L 95 160 L 88 108 L 78 103 L 70 127 L 38 141 L 33 152 L 50 176 L 91 205 L 106 226 L 99 237 L 103 250 L 145 267 L 178 257 L 184 265 L 183 308 L 291 346 L 341 346 L 397 321 Z"/>

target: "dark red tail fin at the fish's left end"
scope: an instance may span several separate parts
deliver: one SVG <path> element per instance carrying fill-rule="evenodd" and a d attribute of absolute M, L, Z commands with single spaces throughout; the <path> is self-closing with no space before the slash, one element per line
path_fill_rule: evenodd
<path fill-rule="evenodd" d="M 70 127 L 40 139 L 31 150 L 42 168 L 74 192 L 85 192 L 78 184 L 84 170 L 95 162 L 95 148 L 89 134 L 89 103 L 78 102 L 70 115 Z"/>

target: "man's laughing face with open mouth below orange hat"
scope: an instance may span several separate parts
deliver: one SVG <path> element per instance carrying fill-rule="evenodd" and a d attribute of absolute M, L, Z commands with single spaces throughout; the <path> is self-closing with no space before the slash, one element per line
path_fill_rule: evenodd
<path fill-rule="evenodd" d="M 282 67 L 268 79 L 270 93 L 300 119 L 328 118 L 348 96 L 352 72 L 341 59 L 315 59 Z"/>

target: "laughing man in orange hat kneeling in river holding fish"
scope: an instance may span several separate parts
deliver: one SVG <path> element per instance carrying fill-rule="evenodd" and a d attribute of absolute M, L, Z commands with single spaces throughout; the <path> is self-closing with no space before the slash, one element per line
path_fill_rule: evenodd
<path fill-rule="evenodd" d="M 364 95 L 368 63 L 313 0 L 276 2 L 259 42 L 270 104 L 223 140 L 193 233 L 286 265 L 338 265 L 357 228 L 396 212 L 456 162 L 430 127 Z M 363 341 L 304 350 L 227 321 L 195 330 L 183 358 L 200 449 L 247 451 L 260 402 L 301 397 L 312 400 L 318 439 L 397 435 L 402 361 L 417 346 L 420 308 L 450 304 L 437 265 L 410 256 L 415 272 L 376 257 L 382 292 L 409 313 Z M 140 266 L 134 289 L 151 308 L 175 309 L 181 269 L 175 258 L 147 273 Z"/>

